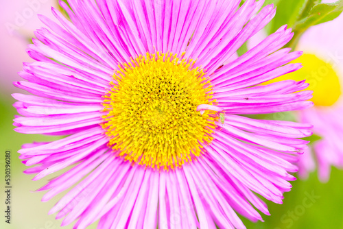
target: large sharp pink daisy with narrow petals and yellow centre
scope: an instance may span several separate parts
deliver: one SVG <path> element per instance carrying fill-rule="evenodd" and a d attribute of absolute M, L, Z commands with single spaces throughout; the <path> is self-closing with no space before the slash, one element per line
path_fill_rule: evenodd
<path fill-rule="evenodd" d="M 17 132 L 67 135 L 19 151 L 49 214 L 86 228 L 245 228 L 289 191 L 288 160 L 311 125 L 239 115 L 312 106 L 304 81 L 261 86 L 300 69 L 281 49 L 286 26 L 237 58 L 273 18 L 263 1 L 69 1 L 36 31 L 15 86 Z M 254 207 L 255 206 L 255 207 Z"/>

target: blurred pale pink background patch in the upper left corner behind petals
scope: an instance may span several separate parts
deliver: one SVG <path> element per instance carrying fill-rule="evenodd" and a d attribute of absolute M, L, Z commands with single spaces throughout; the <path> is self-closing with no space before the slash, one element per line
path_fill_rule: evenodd
<path fill-rule="evenodd" d="M 31 62 L 25 49 L 34 29 L 43 26 L 37 14 L 52 18 L 51 5 L 54 0 L 0 0 L 0 46 L 1 75 L 0 91 L 3 99 L 10 99 L 11 93 L 20 91 L 12 86 L 13 81 L 20 80 L 17 72 L 21 71 L 23 62 Z"/>

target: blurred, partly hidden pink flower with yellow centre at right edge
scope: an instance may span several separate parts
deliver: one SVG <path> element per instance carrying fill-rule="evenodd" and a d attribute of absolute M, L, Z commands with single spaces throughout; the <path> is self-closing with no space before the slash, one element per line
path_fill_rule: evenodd
<path fill-rule="evenodd" d="M 329 2 L 329 1 L 325 1 Z M 314 107 L 297 112 L 299 121 L 312 123 L 320 136 L 305 154 L 299 157 L 299 175 L 307 178 L 318 165 L 318 177 L 329 180 L 331 166 L 343 168 L 343 15 L 337 19 L 311 27 L 300 39 L 297 49 L 305 53 L 297 61 L 303 69 L 280 77 L 280 80 L 307 80 L 314 91 Z"/>

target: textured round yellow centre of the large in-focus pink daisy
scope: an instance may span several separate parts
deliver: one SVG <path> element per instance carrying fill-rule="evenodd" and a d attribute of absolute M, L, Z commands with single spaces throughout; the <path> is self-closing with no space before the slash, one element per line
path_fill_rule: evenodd
<path fill-rule="evenodd" d="M 202 153 L 212 141 L 217 116 L 212 86 L 193 60 L 171 53 L 147 53 L 122 64 L 105 95 L 103 128 L 117 156 L 160 169 L 174 169 Z"/>

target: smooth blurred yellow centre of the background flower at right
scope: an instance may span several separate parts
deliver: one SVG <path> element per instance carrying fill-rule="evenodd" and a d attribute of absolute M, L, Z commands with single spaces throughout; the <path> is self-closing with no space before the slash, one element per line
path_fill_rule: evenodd
<path fill-rule="evenodd" d="M 313 54 L 303 54 L 293 62 L 300 62 L 303 68 L 278 77 L 270 82 L 281 80 L 306 80 L 309 87 L 306 90 L 314 91 L 311 101 L 316 106 L 332 106 L 341 95 L 340 79 L 331 64 L 320 60 Z M 268 83 L 270 83 L 268 82 Z"/>

